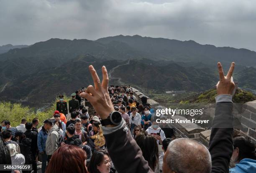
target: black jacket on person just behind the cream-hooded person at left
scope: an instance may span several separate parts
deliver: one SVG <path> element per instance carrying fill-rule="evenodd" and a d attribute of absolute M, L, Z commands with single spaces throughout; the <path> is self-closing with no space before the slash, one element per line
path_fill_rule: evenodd
<path fill-rule="evenodd" d="M 20 141 L 20 153 L 24 155 L 25 157 L 25 164 L 32 164 L 33 162 L 33 155 L 31 152 L 31 139 L 24 138 Z"/>

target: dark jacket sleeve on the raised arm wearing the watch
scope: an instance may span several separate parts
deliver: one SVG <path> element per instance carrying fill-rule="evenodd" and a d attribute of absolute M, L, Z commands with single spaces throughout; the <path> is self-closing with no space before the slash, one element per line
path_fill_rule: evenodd
<path fill-rule="evenodd" d="M 105 133 L 108 153 L 119 173 L 154 173 L 143 158 L 142 151 L 125 126 L 124 120 L 120 128 L 112 133 L 106 134 L 106 129 L 111 131 L 111 128 L 102 127 L 102 130 Z"/>

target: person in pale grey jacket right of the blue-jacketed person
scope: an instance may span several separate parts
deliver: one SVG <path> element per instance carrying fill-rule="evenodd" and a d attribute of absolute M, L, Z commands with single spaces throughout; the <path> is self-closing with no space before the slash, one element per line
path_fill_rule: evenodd
<path fill-rule="evenodd" d="M 48 135 L 45 143 L 45 152 L 47 155 L 47 162 L 49 163 L 51 159 L 51 155 L 54 153 L 54 151 L 58 148 L 58 142 L 59 142 L 59 127 L 54 124 L 46 124 L 45 126 L 46 130 L 48 130 Z"/>

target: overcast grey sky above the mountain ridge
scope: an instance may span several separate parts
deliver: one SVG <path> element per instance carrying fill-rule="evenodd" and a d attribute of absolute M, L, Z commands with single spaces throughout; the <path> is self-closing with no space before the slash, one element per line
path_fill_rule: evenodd
<path fill-rule="evenodd" d="M 256 0 L 0 0 L 0 45 L 114 35 L 256 50 Z"/>

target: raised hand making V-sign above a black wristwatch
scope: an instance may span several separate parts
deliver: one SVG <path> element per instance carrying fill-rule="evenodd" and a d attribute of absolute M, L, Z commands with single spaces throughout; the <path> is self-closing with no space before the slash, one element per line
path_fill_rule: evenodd
<path fill-rule="evenodd" d="M 100 115 L 100 118 L 106 119 L 108 115 L 114 111 L 111 99 L 108 94 L 108 72 L 105 66 L 102 67 L 102 83 L 97 75 L 96 70 L 92 65 L 89 66 L 92 79 L 94 81 L 94 87 L 89 85 L 85 93 L 81 93 L 80 96 L 86 98 L 92 104 L 93 108 Z M 112 125 L 108 125 L 112 126 Z M 108 127 L 107 126 L 107 127 Z"/>

